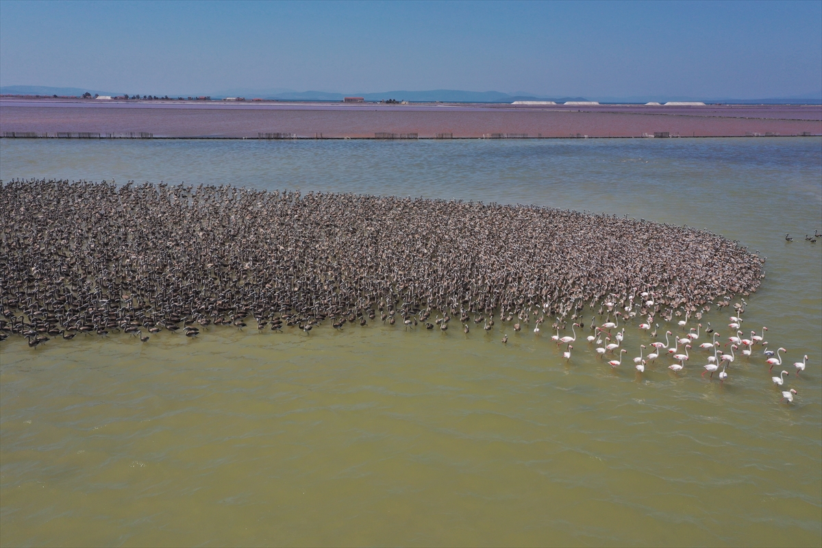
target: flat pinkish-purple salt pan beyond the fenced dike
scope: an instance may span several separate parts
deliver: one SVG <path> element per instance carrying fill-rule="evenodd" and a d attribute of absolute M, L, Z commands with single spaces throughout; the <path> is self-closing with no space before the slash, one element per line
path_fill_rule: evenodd
<path fill-rule="evenodd" d="M 229 103 L 2 99 L 4 136 L 512 138 L 809 136 L 822 105 Z"/>

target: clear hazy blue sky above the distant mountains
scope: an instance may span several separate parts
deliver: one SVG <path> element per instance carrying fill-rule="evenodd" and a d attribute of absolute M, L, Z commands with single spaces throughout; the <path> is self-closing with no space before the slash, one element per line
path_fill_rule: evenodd
<path fill-rule="evenodd" d="M 0 85 L 754 99 L 822 89 L 822 2 L 0 2 Z"/>

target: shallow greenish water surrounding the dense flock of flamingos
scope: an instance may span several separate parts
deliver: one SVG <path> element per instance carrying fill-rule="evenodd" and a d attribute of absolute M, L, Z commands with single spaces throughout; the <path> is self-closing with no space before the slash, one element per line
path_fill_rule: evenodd
<path fill-rule="evenodd" d="M 36 349 L 12 337 L 2 546 L 822 542 L 822 242 L 803 238 L 822 229 L 820 139 L 3 139 L 11 177 L 529 203 L 708 228 L 768 257 L 743 329 L 768 326 L 770 348 L 788 349 L 782 389 L 798 394 L 780 403 L 760 347 L 722 385 L 700 376 L 701 351 L 678 375 L 670 359 L 638 375 L 630 358 L 653 340 L 638 320 L 612 370 L 584 342 L 587 312 L 567 361 L 548 323 L 326 322 L 306 335 L 252 321 Z M 701 320 L 723 343 L 732 310 Z"/>

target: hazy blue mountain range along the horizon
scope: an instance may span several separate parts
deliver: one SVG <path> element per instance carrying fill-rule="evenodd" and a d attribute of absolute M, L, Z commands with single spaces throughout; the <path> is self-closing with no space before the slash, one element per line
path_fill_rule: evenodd
<path fill-rule="evenodd" d="M 133 92 L 134 90 L 132 90 Z M 145 91 L 145 90 L 144 90 Z M 79 96 L 84 93 L 100 94 L 100 95 L 122 95 L 126 91 L 104 91 L 92 90 L 86 88 L 75 87 L 52 87 L 45 85 L 4 85 L 0 86 L 0 94 L 14 94 L 14 95 L 69 95 Z M 133 94 L 133 93 L 130 93 Z M 166 95 L 167 93 L 164 93 Z M 195 94 L 183 94 L 183 96 L 204 95 L 207 93 L 196 92 Z M 180 96 L 180 94 L 173 94 L 173 96 Z M 734 99 L 734 98 L 709 98 L 690 95 L 636 95 L 630 97 L 607 97 L 607 96 L 590 96 L 590 97 L 545 97 L 535 94 L 528 94 L 527 92 L 515 92 L 514 94 L 507 94 L 501 91 L 466 91 L 466 90 L 423 90 L 423 91 L 409 91 L 409 90 L 395 90 L 378 93 L 351 93 L 343 94 L 337 92 L 327 91 L 295 91 L 287 88 L 270 88 L 254 89 L 254 88 L 235 88 L 229 90 L 222 90 L 216 93 L 211 93 L 210 96 L 214 99 L 223 99 L 225 97 L 245 97 L 246 99 L 277 99 L 282 101 L 342 101 L 344 97 L 354 96 L 363 97 L 367 101 L 381 101 L 385 99 L 405 100 L 412 102 L 433 103 L 441 101 L 443 103 L 512 103 L 514 101 L 555 101 L 556 103 L 565 103 L 566 101 L 598 101 L 600 103 L 647 103 L 649 101 L 656 101 L 665 103 L 667 101 L 703 101 L 704 103 L 732 103 L 732 104 L 788 104 L 788 103 L 805 103 L 805 104 L 822 104 L 822 90 L 810 93 L 800 94 L 788 97 L 764 98 L 764 99 Z"/>

